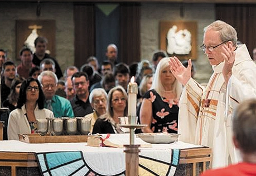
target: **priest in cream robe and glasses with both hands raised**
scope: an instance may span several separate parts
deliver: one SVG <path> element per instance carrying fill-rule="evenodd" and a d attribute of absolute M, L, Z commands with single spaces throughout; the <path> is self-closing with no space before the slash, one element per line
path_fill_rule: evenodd
<path fill-rule="evenodd" d="M 214 73 L 206 87 L 191 78 L 186 68 L 170 57 L 172 74 L 184 86 L 178 118 L 181 141 L 212 148 L 212 168 L 239 161 L 232 141 L 233 112 L 238 104 L 256 97 L 256 65 L 245 45 L 237 45 L 234 27 L 215 21 L 205 28 L 202 51 Z"/>

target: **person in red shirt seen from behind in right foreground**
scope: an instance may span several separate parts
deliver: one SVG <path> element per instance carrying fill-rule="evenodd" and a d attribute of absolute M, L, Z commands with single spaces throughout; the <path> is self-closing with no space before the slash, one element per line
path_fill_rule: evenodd
<path fill-rule="evenodd" d="M 229 167 L 207 170 L 206 175 L 256 175 L 256 99 L 241 102 L 233 119 L 233 143 L 243 162 Z"/>

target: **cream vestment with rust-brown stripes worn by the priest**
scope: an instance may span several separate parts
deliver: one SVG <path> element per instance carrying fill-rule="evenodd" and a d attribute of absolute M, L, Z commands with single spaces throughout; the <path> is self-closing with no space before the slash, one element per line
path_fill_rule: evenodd
<path fill-rule="evenodd" d="M 224 62 L 212 66 L 206 88 L 192 78 L 185 85 L 178 115 L 179 140 L 212 148 L 212 168 L 237 163 L 232 140 L 235 107 L 256 97 L 256 65 L 245 45 L 238 45 L 228 86 L 222 74 Z"/>

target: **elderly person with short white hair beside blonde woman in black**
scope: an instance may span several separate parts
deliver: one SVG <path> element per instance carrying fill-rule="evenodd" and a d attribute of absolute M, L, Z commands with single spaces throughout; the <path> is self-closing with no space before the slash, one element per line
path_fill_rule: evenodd
<path fill-rule="evenodd" d="M 85 118 L 91 118 L 90 133 L 93 132 L 93 126 L 99 116 L 107 113 L 107 92 L 104 89 L 98 88 L 91 91 L 89 101 L 94 112 L 85 116 Z"/>

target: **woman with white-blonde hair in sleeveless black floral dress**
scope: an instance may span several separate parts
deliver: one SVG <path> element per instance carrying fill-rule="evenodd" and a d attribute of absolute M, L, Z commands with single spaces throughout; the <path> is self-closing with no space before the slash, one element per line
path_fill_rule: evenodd
<path fill-rule="evenodd" d="M 148 126 L 143 133 L 177 133 L 182 85 L 172 75 L 168 61 L 165 57 L 158 63 L 151 90 L 144 95 L 139 117 Z"/>

